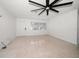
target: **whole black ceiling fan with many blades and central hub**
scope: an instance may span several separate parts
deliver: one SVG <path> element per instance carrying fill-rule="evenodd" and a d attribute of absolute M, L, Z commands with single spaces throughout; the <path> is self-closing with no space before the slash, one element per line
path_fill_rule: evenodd
<path fill-rule="evenodd" d="M 42 8 L 39 8 L 39 9 L 32 10 L 32 11 L 42 10 L 38 15 L 41 15 L 44 11 L 46 11 L 47 16 L 49 15 L 50 10 L 54 11 L 56 13 L 59 13 L 59 11 L 55 9 L 55 7 L 71 5 L 73 3 L 73 1 L 71 1 L 71 2 L 66 2 L 66 3 L 62 3 L 62 4 L 56 4 L 56 3 L 60 2 L 60 0 L 54 0 L 51 3 L 49 3 L 50 0 L 46 0 L 46 5 L 31 1 L 31 0 L 29 0 L 29 2 L 42 7 Z"/>

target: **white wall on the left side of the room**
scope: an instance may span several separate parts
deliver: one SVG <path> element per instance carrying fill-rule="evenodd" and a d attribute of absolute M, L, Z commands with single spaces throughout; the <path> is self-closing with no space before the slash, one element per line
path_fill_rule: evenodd
<path fill-rule="evenodd" d="M 10 43 L 16 37 L 16 20 L 5 9 L 0 7 L 0 48 Z"/>

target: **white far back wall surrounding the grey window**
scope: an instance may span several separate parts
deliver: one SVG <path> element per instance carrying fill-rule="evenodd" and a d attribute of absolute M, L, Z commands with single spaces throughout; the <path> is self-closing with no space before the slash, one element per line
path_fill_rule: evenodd
<path fill-rule="evenodd" d="M 17 19 L 16 35 L 17 36 L 29 36 L 29 35 L 44 35 L 47 34 L 47 30 L 32 30 L 31 22 L 44 22 L 43 20 L 31 20 L 31 19 Z M 25 27 L 27 30 L 25 30 Z"/>

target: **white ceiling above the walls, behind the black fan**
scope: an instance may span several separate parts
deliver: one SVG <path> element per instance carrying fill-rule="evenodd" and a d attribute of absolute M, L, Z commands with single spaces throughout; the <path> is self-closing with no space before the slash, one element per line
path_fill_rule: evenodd
<path fill-rule="evenodd" d="M 36 1 L 38 3 L 44 4 L 45 5 L 45 0 L 32 0 Z M 53 0 L 50 0 L 52 2 Z M 78 0 L 63 0 L 62 2 L 70 2 L 74 1 L 72 6 L 69 7 L 62 7 L 62 8 L 57 8 L 57 10 L 60 11 L 59 14 L 64 13 L 64 12 L 69 12 L 72 9 L 77 8 L 78 6 Z M 60 2 L 60 3 L 62 3 Z M 28 0 L 0 0 L 0 4 L 8 10 L 11 14 L 18 18 L 28 18 L 28 19 L 47 19 L 49 17 L 54 17 L 59 14 L 55 12 L 50 12 L 50 15 L 47 16 L 46 12 L 44 12 L 42 15 L 38 15 L 41 11 L 38 12 L 31 12 L 33 9 L 37 9 L 40 7 L 33 6 L 31 5 Z"/>

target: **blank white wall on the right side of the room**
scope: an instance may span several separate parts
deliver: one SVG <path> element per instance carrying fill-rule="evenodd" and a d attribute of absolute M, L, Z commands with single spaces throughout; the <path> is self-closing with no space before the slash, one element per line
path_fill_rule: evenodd
<path fill-rule="evenodd" d="M 48 23 L 49 35 L 77 44 L 77 10 L 52 18 Z"/>

